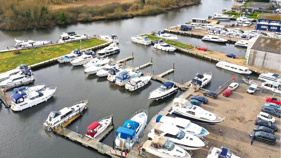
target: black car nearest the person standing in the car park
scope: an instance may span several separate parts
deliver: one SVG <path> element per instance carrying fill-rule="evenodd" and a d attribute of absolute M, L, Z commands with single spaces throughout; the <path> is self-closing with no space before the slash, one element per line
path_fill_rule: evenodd
<path fill-rule="evenodd" d="M 266 133 L 266 132 L 251 132 L 250 137 L 254 137 L 255 140 L 265 142 L 268 145 L 276 144 L 276 138 L 273 134 Z"/>

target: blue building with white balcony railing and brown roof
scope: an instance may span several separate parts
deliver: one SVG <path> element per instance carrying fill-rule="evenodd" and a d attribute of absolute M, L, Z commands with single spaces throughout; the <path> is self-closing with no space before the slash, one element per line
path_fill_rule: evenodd
<path fill-rule="evenodd" d="M 255 29 L 264 31 L 281 32 L 280 15 L 261 14 L 257 20 Z"/>

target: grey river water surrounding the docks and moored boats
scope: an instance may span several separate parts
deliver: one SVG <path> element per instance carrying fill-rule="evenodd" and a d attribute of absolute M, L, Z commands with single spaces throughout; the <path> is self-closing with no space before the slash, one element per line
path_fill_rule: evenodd
<path fill-rule="evenodd" d="M 199 5 L 182 9 L 172 10 L 164 14 L 154 16 L 140 16 L 131 19 L 98 21 L 90 23 L 79 23 L 66 26 L 55 26 L 48 29 L 27 30 L 27 31 L 0 31 L 0 47 L 5 49 L 14 45 L 14 38 L 17 39 L 50 39 L 56 41 L 61 32 L 75 31 L 79 34 L 111 34 L 119 38 L 121 52 L 110 58 L 122 59 L 132 55 L 134 59 L 126 62 L 127 65 L 139 66 L 150 62 L 153 58 L 153 65 L 144 68 L 143 71 L 155 74 L 163 73 L 173 67 L 174 73 L 168 76 L 175 82 L 183 83 L 193 79 L 196 73 L 212 72 L 211 84 L 206 87 L 209 90 L 216 90 L 227 80 L 235 77 L 241 82 L 241 75 L 221 68 L 217 68 L 214 62 L 200 59 L 180 52 L 163 52 L 153 49 L 152 46 L 140 45 L 131 41 L 131 36 L 161 30 L 175 26 L 180 21 L 183 23 L 191 18 L 207 18 L 222 8 L 230 8 L 233 0 L 202 0 Z M 201 39 L 193 37 L 179 37 L 181 42 L 203 45 L 207 48 L 221 52 L 232 52 L 244 56 L 245 49 L 236 48 L 233 44 L 218 45 L 215 43 L 201 42 Z M 67 54 L 68 52 L 66 52 Z M 112 146 L 115 140 L 115 131 L 123 125 L 136 111 L 147 109 L 148 121 L 155 113 L 172 102 L 175 96 L 161 100 L 150 101 L 148 94 L 161 85 L 157 81 L 151 81 L 148 85 L 136 92 L 129 92 L 123 87 L 117 87 L 107 81 L 106 78 L 98 78 L 95 75 L 87 75 L 83 67 L 73 67 L 71 64 L 53 64 L 39 70 L 34 70 L 35 82 L 46 83 L 47 86 L 57 86 L 52 98 L 32 108 L 20 112 L 13 112 L 11 109 L 0 107 L 0 157 L 104 157 L 97 151 L 87 149 L 81 144 L 76 144 L 64 139 L 43 128 L 43 122 L 47 119 L 50 111 L 60 110 L 65 106 L 71 106 L 75 102 L 88 99 L 88 108 L 83 116 L 69 129 L 76 131 L 78 127 L 81 134 L 86 133 L 86 128 L 92 122 L 113 114 L 114 130 L 102 141 Z M 167 77 L 166 77 L 167 78 Z M 208 129 L 208 127 L 206 126 Z M 196 151 L 193 151 L 196 152 Z M 203 155 L 202 155 L 203 156 Z M 206 156 L 206 155 L 204 155 Z"/>

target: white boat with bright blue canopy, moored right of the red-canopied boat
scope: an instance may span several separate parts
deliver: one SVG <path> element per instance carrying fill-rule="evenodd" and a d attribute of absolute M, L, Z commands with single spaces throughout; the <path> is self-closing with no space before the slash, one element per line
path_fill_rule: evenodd
<path fill-rule="evenodd" d="M 139 110 L 129 120 L 126 120 L 122 127 L 118 127 L 115 144 L 119 150 L 123 151 L 133 148 L 140 134 L 145 129 L 147 116 L 146 110 Z"/>

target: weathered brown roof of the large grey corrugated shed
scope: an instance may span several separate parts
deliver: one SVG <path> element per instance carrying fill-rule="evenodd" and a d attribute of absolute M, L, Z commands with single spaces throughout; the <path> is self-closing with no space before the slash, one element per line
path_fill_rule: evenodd
<path fill-rule="evenodd" d="M 280 54 L 280 45 L 281 40 L 278 38 L 259 36 L 251 49 Z"/>

